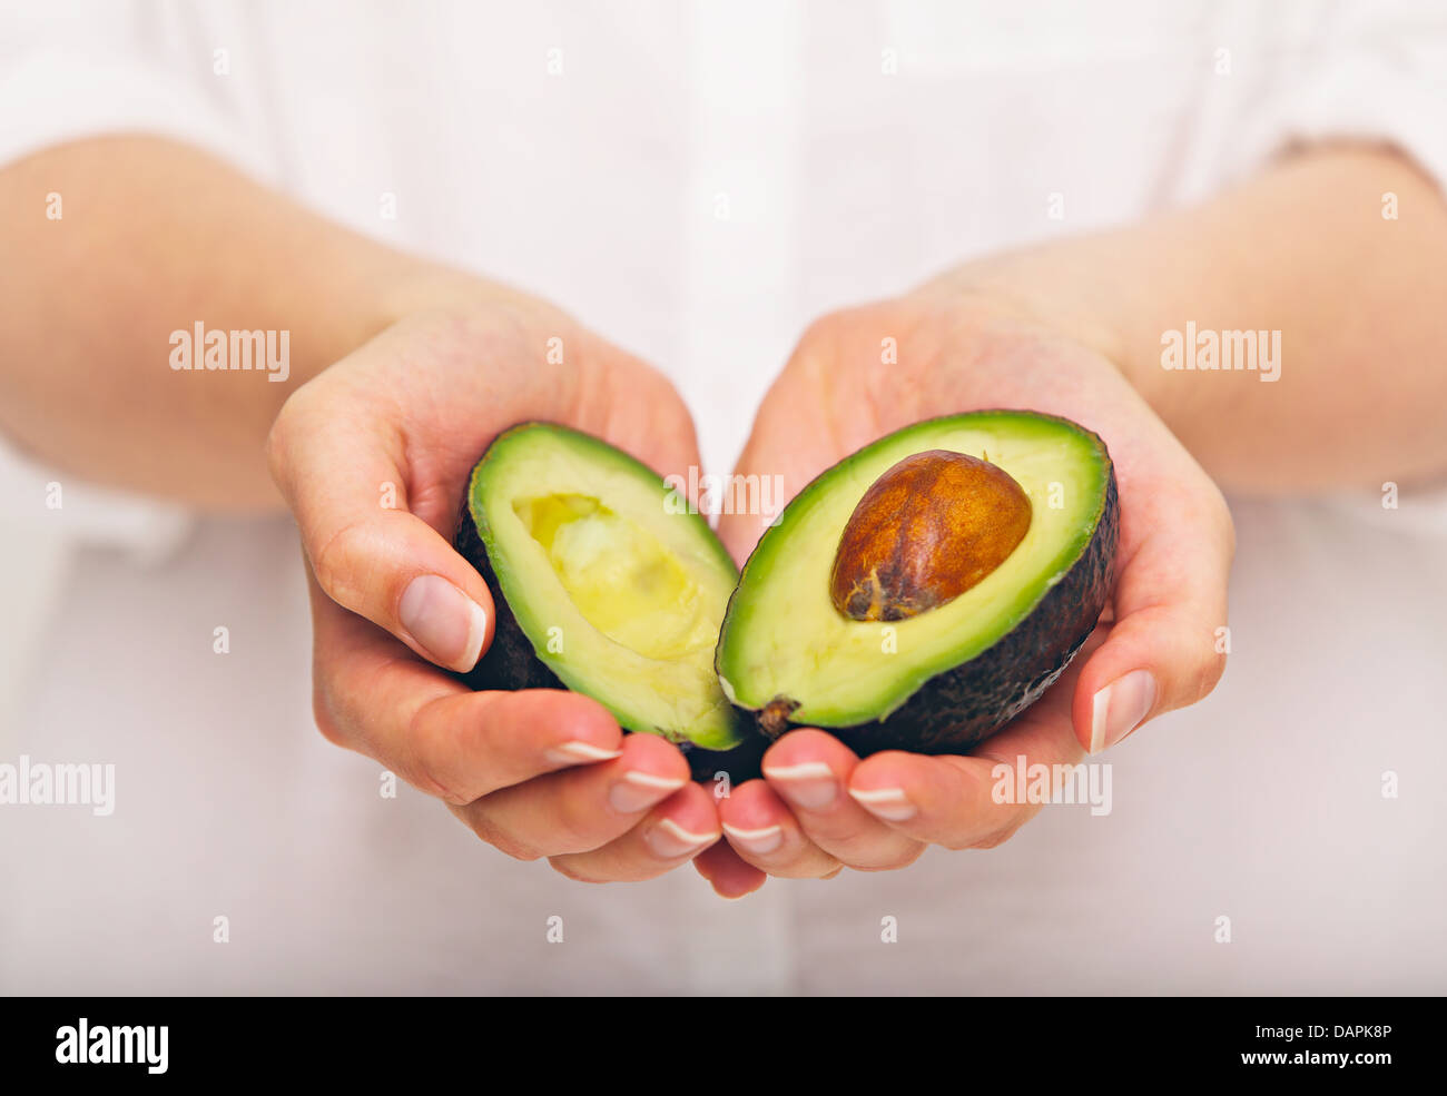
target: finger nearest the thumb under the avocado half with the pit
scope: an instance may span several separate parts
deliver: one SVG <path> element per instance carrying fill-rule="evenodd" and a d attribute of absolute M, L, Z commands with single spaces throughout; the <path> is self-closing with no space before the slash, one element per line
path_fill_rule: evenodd
<path fill-rule="evenodd" d="M 1087 641 L 1087 652 L 1101 642 L 1098 630 Z M 1056 766 L 1075 765 L 1084 756 L 1071 727 L 1078 665 L 969 756 L 888 750 L 865 758 L 849 776 L 851 797 L 881 824 L 919 842 L 946 849 L 1000 844 L 1042 807 L 1039 797 L 1016 792 L 1016 774 L 1039 772 L 1030 766 L 1043 765 L 1052 781 L 1064 781 L 1065 772 Z"/>

